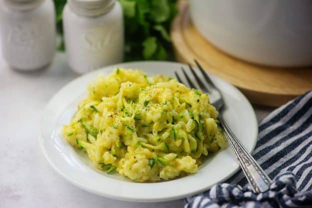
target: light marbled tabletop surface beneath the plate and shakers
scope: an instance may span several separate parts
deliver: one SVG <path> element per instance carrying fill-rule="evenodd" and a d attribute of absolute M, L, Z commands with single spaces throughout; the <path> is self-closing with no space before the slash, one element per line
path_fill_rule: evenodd
<path fill-rule="evenodd" d="M 99 197 L 50 168 L 38 142 L 41 112 L 51 96 L 77 76 L 63 53 L 36 72 L 9 69 L 0 58 L 0 208 L 182 208 L 183 200 L 147 204 Z M 261 120 L 272 109 L 255 111 Z"/>

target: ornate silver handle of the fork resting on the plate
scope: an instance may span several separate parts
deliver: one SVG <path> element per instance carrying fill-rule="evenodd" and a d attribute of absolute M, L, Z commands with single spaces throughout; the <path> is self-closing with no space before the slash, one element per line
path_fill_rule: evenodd
<path fill-rule="evenodd" d="M 227 138 L 232 150 L 234 151 L 240 166 L 255 193 L 262 193 L 270 188 L 271 179 L 255 161 L 253 156 L 246 150 L 242 143 L 237 139 L 223 117 L 219 115 L 221 128 Z"/>

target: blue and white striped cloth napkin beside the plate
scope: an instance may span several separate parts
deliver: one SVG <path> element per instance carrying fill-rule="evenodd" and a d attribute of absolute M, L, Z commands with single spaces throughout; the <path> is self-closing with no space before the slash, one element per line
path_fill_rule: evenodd
<path fill-rule="evenodd" d="M 239 171 L 185 208 L 312 208 L 312 91 L 262 120 L 253 156 L 274 179 L 269 191 L 254 194 Z"/>

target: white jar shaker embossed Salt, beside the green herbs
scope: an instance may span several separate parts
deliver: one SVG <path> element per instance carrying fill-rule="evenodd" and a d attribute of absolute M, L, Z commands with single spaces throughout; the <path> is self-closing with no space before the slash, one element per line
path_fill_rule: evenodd
<path fill-rule="evenodd" d="M 123 60 L 122 8 L 116 0 L 68 0 L 63 10 L 67 60 L 86 73 Z"/>

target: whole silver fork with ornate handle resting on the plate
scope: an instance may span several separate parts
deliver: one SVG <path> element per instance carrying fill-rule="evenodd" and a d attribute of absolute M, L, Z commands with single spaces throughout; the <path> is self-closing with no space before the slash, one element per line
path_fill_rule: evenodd
<path fill-rule="evenodd" d="M 210 100 L 212 101 L 212 105 L 220 112 L 224 108 L 224 100 L 219 89 L 215 86 L 215 84 L 211 81 L 208 74 L 204 71 L 201 65 L 195 60 L 199 71 L 203 75 L 205 81 L 197 75 L 191 65 L 189 65 L 190 71 L 196 79 L 196 82 L 192 82 L 190 76 L 182 67 L 182 72 L 189 84 L 192 88 L 200 88 L 204 93 L 209 95 Z M 179 82 L 183 83 L 181 77 L 175 71 L 175 75 Z M 186 83 L 184 83 L 186 84 Z M 196 85 L 198 87 L 196 87 Z M 246 150 L 243 144 L 238 140 L 233 131 L 230 129 L 226 121 L 223 119 L 221 113 L 219 113 L 220 126 L 224 131 L 224 135 L 227 138 L 232 150 L 234 151 L 239 164 L 251 185 L 252 190 L 255 193 L 262 193 L 267 191 L 270 188 L 270 184 L 272 183 L 271 179 L 264 172 L 264 170 L 260 167 L 260 165 L 255 161 L 253 156 Z"/>

